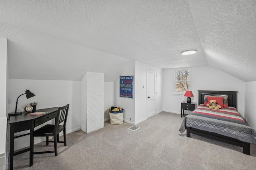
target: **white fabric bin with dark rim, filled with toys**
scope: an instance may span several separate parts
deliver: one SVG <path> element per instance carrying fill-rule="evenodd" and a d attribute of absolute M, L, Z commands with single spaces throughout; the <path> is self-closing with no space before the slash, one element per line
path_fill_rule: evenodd
<path fill-rule="evenodd" d="M 111 124 L 122 124 L 124 121 L 124 110 L 121 107 L 112 106 L 108 109 L 109 112 L 110 123 Z"/>

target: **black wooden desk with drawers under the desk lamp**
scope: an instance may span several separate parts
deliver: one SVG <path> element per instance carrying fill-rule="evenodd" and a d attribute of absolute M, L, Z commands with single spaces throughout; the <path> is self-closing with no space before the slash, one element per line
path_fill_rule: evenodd
<path fill-rule="evenodd" d="M 33 165 L 33 150 L 34 150 L 34 127 L 42 125 L 51 119 L 54 119 L 58 113 L 58 107 L 40 109 L 38 112 L 48 112 L 44 115 L 29 115 L 29 113 L 22 112 L 22 115 L 11 116 L 10 124 L 10 170 L 13 169 L 13 156 L 30 151 L 29 166 Z M 24 130 L 30 130 L 28 134 L 14 136 L 14 133 Z M 18 152 L 14 152 L 14 138 L 30 135 L 30 147 Z"/>

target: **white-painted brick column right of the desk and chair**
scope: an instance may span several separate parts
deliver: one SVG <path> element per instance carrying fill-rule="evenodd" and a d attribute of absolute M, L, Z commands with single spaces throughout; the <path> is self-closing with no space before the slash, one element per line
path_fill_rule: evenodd
<path fill-rule="evenodd" d="M 104 127 L 104 73 L 87 72 L 81 80 L 81 130 Z"/>

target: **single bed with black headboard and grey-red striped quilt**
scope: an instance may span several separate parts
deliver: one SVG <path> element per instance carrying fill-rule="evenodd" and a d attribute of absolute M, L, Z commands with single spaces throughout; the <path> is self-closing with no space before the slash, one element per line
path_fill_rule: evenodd
<path fill-rule="evenodd" d="M 205 106 L 208 99 L 216 95 L 226 95 L 227 108 L 209 109 Z M 223 98 L 221 98 L 223 99 Z M 243 153 L 250 155 L 250 143 L 256 144 L 256 130 L 240 116 L 237 108 L 237 91 L 198 91 L 198 107 L 184 117 L 180 132 L 187 130 L 187 136 L 197 134 L 214 140 L 243 147 Z M 224 100 L 223 100 L 224 101 Z"/>

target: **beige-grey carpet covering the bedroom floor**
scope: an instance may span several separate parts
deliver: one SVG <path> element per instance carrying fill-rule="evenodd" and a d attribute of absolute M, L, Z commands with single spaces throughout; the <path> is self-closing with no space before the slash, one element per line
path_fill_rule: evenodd
<path fill-rule="evenodd" d="M 58 144 L 54 153 L 34 155 L 29 167 L 29 152 L 14 157 L 14 169 L 31 170 L 255 170 L 256 145 L 251 155 L 242 147 L 218 142 L 186 132 L 179 127 L 184 118 L 162 112 L 133 125 L 111 125 L 86 134 L 81 130 L 67 134 L 67 146 Z M 53 149 L 53 143 L 35 145 L 36 150 Z"/>

